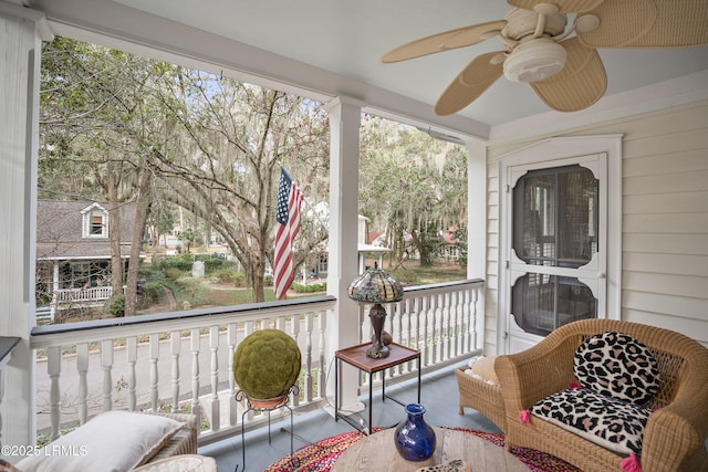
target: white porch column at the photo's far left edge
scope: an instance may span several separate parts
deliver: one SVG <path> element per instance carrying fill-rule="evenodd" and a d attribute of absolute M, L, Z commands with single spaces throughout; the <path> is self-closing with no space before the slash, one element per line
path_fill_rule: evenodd
<path fill-rule="evenodd" d="M 42 35 L 44 34 L 44 38 Z M 6 375 L 2 444 L 34 443 L 34 241 L 37 148 L 44 15 L 0 1 L 0 336 L 20 342 Z M 17 462 L 19 458 L 9 458 Z"/>

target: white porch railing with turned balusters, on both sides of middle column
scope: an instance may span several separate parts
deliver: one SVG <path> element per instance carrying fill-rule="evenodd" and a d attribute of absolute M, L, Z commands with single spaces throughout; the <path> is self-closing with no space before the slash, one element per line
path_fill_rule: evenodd
<path fill-rule="evenodd" d="M 420 349 L 426 370 L 478 352 L 482 284 L 408 287 L 391 307 L 386 331 L 397 343 Z M 35 327 L 38 431 L 49 430 L 55 439 L 64 426 L 127 409 L 198 415 L 200 444 L 232 436 L 240 431 L 243 412 L 235 399 L 233 353 L 243 337 L 267 327 L 284 331 L 302 350 L 300 394 L 291 398 L 292 408 L 322 406 L 327 401 L 324 334 L 327 312 L 335 306 L 334 297 L 322 296 Z M 362 333 L 368 333 L 368 317 L 362 319 Z M 387 379 L 408 375 L 399 366 Z M 243 426 L 266 420 L 249 412 Z"/>

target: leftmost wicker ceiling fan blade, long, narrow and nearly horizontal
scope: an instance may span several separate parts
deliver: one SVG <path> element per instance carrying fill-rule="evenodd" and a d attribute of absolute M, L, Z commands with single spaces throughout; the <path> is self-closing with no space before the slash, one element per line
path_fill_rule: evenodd
<path fill-rule="evenodd" d="M 485 41 L 488 33 L 501 31 L 506 25 L 507 20 L 499 20 L 434 34 L 412 41 L 387 52 L 381 57 L 381 62 L 406 61 L 436 52 L 477 44 Z"/>

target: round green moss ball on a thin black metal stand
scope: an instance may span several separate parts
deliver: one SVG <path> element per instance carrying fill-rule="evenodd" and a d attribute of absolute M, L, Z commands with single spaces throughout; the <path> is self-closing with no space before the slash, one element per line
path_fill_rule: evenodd
<path fill-rule="evenodd" d="M 300 375 L 298 343 L 280 329 L 262 329 L 246 337 L 233 354 L 233 378 L 250 398 L 288 394 Z"/>

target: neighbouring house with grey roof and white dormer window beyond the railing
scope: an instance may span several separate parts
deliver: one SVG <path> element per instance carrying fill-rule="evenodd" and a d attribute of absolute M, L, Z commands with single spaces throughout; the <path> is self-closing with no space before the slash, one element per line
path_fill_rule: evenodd
<path fill-rule="evenodd" d="M 124 206 L 119 211 L 121 259 L 127 269 L 133 209 Z M 116 292 L 111 286 L 110 237 L 113 231 L 105 204 L 86 200 L 38 201 L 35 294 L 39 319 L 53 322 L 62 310 L 101 306 Z"/>

